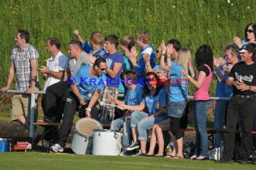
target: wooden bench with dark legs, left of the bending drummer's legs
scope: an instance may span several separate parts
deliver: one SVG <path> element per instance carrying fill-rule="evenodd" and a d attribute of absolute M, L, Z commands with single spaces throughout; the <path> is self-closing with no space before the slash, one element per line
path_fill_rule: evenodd
<path fill-rule="evenodd" d="M 38 125 L 41 127 L 41 140 L 42 140 L 42 151 L 44 151 L 44 136 L 46 136 L 49 132 L 52 132 L 56 135 L 53 135 L 53 143 L 56 141 L 57 136 L 57 126 L 60 126 L 61 123 L 52 123 L 52 122 L 35 122 L 33 125 Z M 47 130 L 45 130 L 45 127 L 49 127 Z"/>

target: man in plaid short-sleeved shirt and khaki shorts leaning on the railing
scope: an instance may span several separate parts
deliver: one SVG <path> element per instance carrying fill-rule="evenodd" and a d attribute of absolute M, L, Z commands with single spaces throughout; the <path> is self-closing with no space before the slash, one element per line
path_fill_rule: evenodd
<path fill-rule="evenodd" d="M 18 30 L 15 38 L 16 46 L 11 54 L 11 67 L 7 85 L 2 88 L 3 93 L 10 88 L 16 73 L 15 87 L 17 90 L 24 90 L 25 94 L 14 94 L 11 105 L 11 120 L 17 120 L 27 130 L 29 130 L 30 122 L 30 93 L 38 90 L 39 87 L 37 76 L 39 54 L 33 46 L 28 44 L 29 39 L 30 34 L 26 30 Z M 37 98 L 38 95 L 35 96 L 35 120 L 38 117 Z M 34 142 L 39 141 L 38 139 L 40 139 L 40 134 L 35 132 Z"/>

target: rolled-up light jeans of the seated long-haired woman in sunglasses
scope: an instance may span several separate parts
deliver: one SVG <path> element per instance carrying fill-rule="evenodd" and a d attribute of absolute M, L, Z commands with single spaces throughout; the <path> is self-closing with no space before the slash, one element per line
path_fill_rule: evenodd
<path fill-rule="evenodd" d="M 162 122 L 165 119 L 168 119 L 167 115 L 161 115 L 159 117 L 150 118 L 141 120 L 148 117 L 147 113 L 141 111 L 134 111 L 131 115 L 131 127 L 136 127 L 138 132 L 138 140 L 147 141 L 147 130 L 150 130 L 154 124 Z"/>

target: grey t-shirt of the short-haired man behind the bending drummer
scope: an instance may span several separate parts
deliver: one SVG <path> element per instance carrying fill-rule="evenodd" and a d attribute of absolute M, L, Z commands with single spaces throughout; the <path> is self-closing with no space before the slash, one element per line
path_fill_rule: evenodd
<path fill-rule="evenodd" d="M 85 52 L 81 53 L 81 55 L 77 61 L 75 61 L 74 58 L 69 56 L 66 67 L 69 68 L 71 77 L 75 77 L 76 72 L 83 65 L 92 65 L 92 63 L 89 60 L 88 54 Z"/>

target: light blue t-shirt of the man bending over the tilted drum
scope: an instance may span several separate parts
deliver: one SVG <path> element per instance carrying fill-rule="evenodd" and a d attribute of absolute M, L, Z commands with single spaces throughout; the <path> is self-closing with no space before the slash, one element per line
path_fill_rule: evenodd
<path fill-rule="evenodd" d="M 90 72 L 92 68 L 88 65 L 82 66 L 75 74 L 75 84 L 78 85 L 77 89 L 85 99 L 88 93 L 93 94 L 96 89 L 102 91 L 104 81 L 106 81 L 105 74 L 102 74 L 102 76 L 93 76 Z"/>

